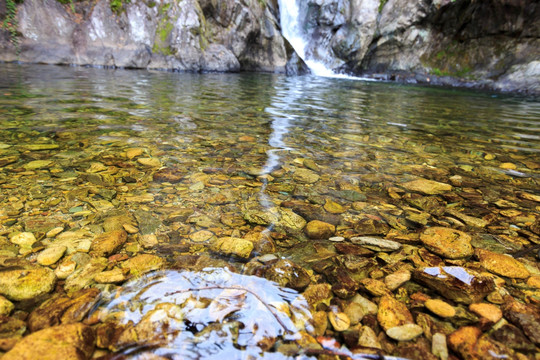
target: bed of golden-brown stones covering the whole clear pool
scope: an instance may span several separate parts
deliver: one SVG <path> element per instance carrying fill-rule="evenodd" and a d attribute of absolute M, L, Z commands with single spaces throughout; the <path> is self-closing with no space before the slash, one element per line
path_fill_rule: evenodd
<path fill-rule="evenodd" d="M 467 103 L 418 107 L 418 131 L 388 123 L 406 112 L 306 104 L 326 86 L 288 107 L 283 78 L 73 71 L 2 85 L 2 359 L 211 358 L 216 342 L 231 358 L 538 359 L 537 142 L 449 130 Z M 427 96 L 347 84 L 332 93 Z M 289 115 L 294 149 L 265 172 Z"/>

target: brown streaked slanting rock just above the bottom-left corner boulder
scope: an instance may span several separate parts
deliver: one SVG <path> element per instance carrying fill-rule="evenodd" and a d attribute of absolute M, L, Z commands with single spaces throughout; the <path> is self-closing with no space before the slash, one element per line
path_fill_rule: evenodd
<path fill-rule="evenodd" d="M 53 296 L 30 313 L 30 331 L 82 321 L 99 300 L 99 294 L 98 289 L 91 288 L 80 290 L 71 296 Z"/>

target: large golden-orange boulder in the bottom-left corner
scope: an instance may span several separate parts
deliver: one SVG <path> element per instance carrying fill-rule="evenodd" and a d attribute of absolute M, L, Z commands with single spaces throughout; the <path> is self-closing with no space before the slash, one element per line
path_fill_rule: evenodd
<path fill-rule="evenodd" d="M 94 352 L 94 341 L 94 331 L 87 325 L 59 325 L 26 336 L 2 359 L 86 360 Z"/>

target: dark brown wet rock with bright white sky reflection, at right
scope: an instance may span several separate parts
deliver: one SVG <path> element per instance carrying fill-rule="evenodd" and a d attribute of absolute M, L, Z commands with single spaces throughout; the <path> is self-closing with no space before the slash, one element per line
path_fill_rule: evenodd
<path fill-rule="evenodd" d="M 416 269 L 413 278 L 447 299 L 465 304 L 480 302 L 495 289 L 491 277 L 459 266 Z"/>

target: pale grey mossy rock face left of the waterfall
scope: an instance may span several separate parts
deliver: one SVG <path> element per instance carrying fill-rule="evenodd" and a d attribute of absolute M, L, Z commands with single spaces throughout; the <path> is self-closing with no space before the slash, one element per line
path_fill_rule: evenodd
<path fill-rule="evenodd" d="M 285 70 L 276 7 L 257 0 L 24 1 L 18 7 L 24 62 L 179 71 Z M 271 2 L 269 2 L 271 3 Z M 45 14 L 45 15 L 44 15 Z M 5 14 L 0 13 L 0 19 Z M 16 60 L 0 30 L 0 60 Z"/>

